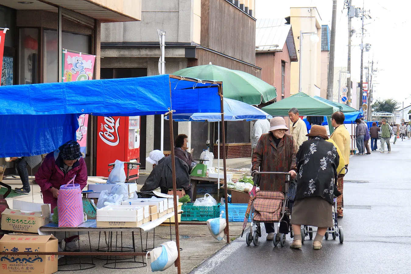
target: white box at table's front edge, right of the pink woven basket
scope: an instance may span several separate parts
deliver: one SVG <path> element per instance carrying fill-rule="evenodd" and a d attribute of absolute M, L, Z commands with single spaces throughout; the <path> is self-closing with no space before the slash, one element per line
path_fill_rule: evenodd
<path fill-rule="evenodd" d="M 139 222 L 143 220 L 144 207 L 132 205 L 107 205 L 97 210 L 99 222 Z"/>

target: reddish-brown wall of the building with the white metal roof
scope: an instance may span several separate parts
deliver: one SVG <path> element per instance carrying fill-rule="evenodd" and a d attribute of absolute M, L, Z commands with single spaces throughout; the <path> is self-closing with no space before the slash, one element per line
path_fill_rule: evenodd
<path fill-rule="evenodd" d="M 261 79 L 277 88 L 277 101 L 281 100 L 281 62 L 285 61 L 285 91 L 284 98 L 291 92 L 291 61 L 287 44 L 283 51 L 275 53 L 256 53 L 256 66 L 263 69 Z"/>

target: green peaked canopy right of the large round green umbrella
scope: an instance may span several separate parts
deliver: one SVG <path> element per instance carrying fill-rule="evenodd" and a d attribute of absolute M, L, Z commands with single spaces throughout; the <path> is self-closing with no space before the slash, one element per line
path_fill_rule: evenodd
<path fill-rule="evenodd" d="M 341 106 L 332 106 L 304 92 L 298 92 L 261 109 L 274 117 L 288 116 L 290 108 L 297 108 L 301 116 L 331 116 L 332 113 L 342 110 Z"/>

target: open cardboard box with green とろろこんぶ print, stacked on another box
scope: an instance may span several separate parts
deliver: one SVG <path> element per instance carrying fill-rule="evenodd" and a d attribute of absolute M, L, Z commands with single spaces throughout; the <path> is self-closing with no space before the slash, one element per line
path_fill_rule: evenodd
<path fill-rule="evenodd" d="M 50 205 L 13 200 L 13 209 L 2 212 L 2 230 L 37 233 L 50 222 Z"/>

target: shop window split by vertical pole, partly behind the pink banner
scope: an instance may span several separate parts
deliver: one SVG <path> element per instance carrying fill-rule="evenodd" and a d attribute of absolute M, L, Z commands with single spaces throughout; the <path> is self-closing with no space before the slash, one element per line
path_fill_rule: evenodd
<path fill-rule="evenodd" d="M 91 53 L 91 36 L 62 32 L 62 48 L 81 53 Z M 57 31 L 44 30 L 44 83 L 58 82 Z"/>

